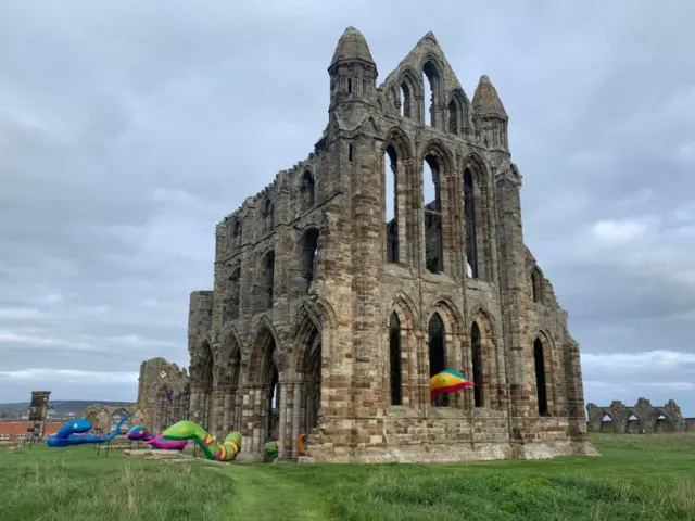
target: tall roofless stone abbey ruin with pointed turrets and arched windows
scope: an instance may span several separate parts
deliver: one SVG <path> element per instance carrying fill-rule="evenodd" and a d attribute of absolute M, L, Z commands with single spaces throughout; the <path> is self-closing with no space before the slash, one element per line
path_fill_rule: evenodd
<path fill-rule="evenodd" d="M 523 243 L 508 117 L 469 101 L 434 36 L 377 87 L 350 27 L 309 156 L 216 229 L 214 290 L 191 294 L 191 416 L 315 461 L 595 454 L 579 346 Z M 425 199 L 425 195 L 428 199 Z M 476 382 L 430 403 L 444 368 Z"/>

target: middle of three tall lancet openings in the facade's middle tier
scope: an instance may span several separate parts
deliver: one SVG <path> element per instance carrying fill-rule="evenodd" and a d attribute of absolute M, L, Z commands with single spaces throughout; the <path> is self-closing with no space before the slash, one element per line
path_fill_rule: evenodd
<path fill-rule="evenodd" d="M 425 266 L 432 274 L 444 270 L 442 233 L 441 163 L 433 154 L 422 165 L 422 205 L 425 207 Z M 429 203 L 427 201 L 430 201 Z"/>

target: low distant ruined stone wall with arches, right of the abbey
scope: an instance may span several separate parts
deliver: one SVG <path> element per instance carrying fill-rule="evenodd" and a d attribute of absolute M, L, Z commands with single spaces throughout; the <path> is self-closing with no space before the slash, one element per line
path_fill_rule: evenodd
<path fill-rule="evenodd" d="M 654 406 L 646 398 L 639 398 L 633 406 L 620 401 L 610 405 L 586 406 L 590 432 L 616 434 L 665 434 L 674 432 L 695 432 L 695 418 L 683 418 L 681 408 L 669 399 L 664 406 Z M 606 420 L 606 417 L 608 419 Z"/>

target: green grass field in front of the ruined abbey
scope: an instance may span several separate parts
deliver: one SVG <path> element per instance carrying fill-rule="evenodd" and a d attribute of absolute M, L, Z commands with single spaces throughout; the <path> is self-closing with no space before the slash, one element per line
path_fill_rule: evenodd
<path fill-rule="evenodd" d="M 2 521 L 695 520 L 695 437 L 597 435 L 603 458 L 456 466 L 164 463 L 0 449 Z"/>

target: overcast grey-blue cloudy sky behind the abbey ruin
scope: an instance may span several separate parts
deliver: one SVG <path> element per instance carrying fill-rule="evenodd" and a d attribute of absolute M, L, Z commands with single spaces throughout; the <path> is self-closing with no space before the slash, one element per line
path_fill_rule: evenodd
<path fill-rule="evenodd" d="M 354 25 L 383 79 L 434 31 L 510 115 L 527 242 L 582 346 L 587 402 L 695 416 L 691 0 L 5 0 L 0 402 L 135 399 L 181 366 L 215 224 L 306 156 Z"/>

